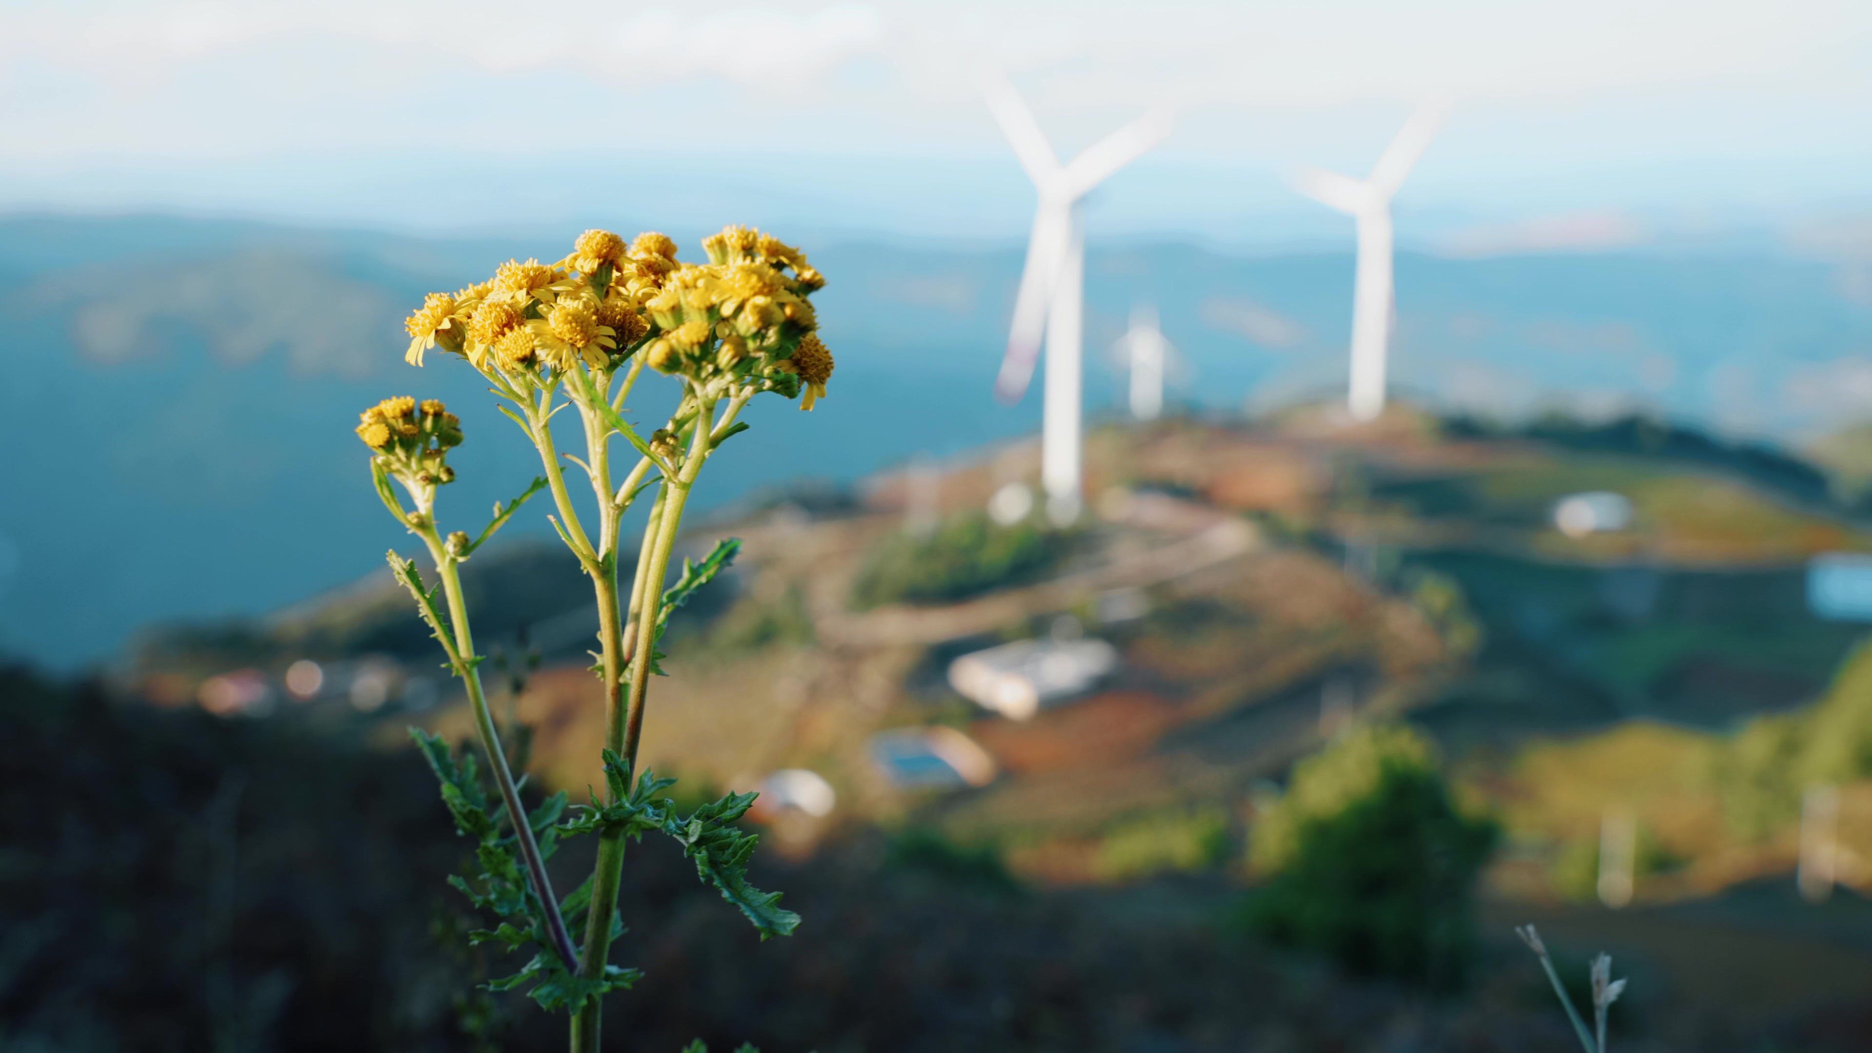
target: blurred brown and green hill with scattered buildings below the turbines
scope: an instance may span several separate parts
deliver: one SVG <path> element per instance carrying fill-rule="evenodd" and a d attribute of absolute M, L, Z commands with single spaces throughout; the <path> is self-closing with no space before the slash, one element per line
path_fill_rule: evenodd
<path fill-rule="evenodd" d="M 799 847 L 914 817 L 1002 845 L 1024 873 L 1095 881 L 1179 866 L 1353 714 L 1410 716 L 1464 759 L 1632 719 L 1726 731 L 1816 699 L 1861 630 L 1806 613 L 1805 560 L 1872 551 L 1872 534 L 1823 493 L 1777 485 L 1805 478 L 1795 461 L 1767 478 L 1758 452 L 1584 446 L 1404 407 L 1367 427 L 1309 407 L 1101 427 L 1093 515 L 1071 532 L 990 528 L 1031 534 L 1009 543 L 1033 555 L 985 579 L 970 577 L 979 536 L 945 553 L 943 525 L 981 521 L 998 487 L 1031 478 L 1031 442 L 721 510 L 689 543 L 738 536 L 743 555 L 672 635 L 646 763 L 738 789 L 777 768 L 824 774 L 831 826 L 779 817 Z M 1582 489 L 1625 493 L 1634 523 L 1563 534 L 1552 504 Z M 929 573 L 960 590 L 899 600 L 878 585 L 917 560 L 945 560 Z M 500 661 L 543 658 L 519 701 L 541 776 L 595 781 L 586 585 L 534 541 L 468 571 Z M 148 635 L 125 676 L 183 701 L 202 676 L 313 658 L 329 667 L 322 704 L 344 708 L 344 676 L 369 663 L 427 701 L 434 660 L 402 605 L 378 573 L 264 622 Z M 1058 633 L 1108 641 L 1119 665 L 1033 719 L 945 678 L 962 654 Z M 464 731 L 447 706 L 425 719 Z M 953 794 L 893 787 L 872 736 L 925 725 L 962 731 L 1000 776 Z"/>

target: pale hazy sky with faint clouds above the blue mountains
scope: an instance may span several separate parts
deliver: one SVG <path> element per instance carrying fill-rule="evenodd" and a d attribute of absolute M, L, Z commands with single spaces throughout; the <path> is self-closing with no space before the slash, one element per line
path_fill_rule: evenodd
<path fill-rule="evenodd" d="M 1342 234 L 1288 174 L 1363 174 L 1434 96 L 1456 109 L 1398 197 L 1404 240 L 1601 247 L 1872 212 L 1872 4 L 1833 0 L 11 0 L 0 210 L 1015 238 L 1033 191 L 983 69 L 1061 156 L 1177 114 L 1099 191 L 1095 234 Z"/>

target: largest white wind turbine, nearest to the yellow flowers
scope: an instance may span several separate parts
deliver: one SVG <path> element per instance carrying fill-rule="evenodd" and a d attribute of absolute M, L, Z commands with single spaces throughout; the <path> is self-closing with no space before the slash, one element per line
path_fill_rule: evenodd
<path fill-rule="evenodd" d="M 1084 197 L 1170 133 L 1170 114 L 1149 112 L 1086 148 L 1061 165 L 1033 111 L 1005 79 L 983 79 L 988 109 L 1015 146 L 1020 167 L 1041 191 L 1028 242 L 1028 264 L 1015 298 L 1015 324 L 1007 334 L 1007 358 L 994 382 L 1003 403 L 1016 403 L 1033 378 L 1041 335 L 1046 337 L 1046 388 L 1041 427 L 1041 489 L 1046 517 L 1056 525 L 1078 519 L 1082 390 L 1082 302 L 1086 294 Z"/>

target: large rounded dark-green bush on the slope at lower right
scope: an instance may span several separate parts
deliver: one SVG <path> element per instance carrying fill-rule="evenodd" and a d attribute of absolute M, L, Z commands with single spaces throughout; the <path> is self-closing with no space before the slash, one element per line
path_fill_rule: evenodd
<path fill-rule="evenodd" d="M 1404 727 L 1363 727 L 1301 761 L 1252 830 L 1271 875 L 1247 924 L 1352 972 L 1453 987 L 1475 942 L 1475 881 L 1496 826 L 1462 815 L 1432 749 Z"/>

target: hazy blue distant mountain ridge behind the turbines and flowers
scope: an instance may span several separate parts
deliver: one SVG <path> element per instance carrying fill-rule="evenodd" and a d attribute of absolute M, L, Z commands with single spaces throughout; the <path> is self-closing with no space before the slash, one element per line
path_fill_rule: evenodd
<path fill-rule="evenodd" d="M 462 412 L 444 513 L 477 521 L 537 470 L 483 384 L 401 362 L 421 294 L 560 240 L 416 238 L 176 217 L 0 219 L 0 650 L 54 667 L 114 652 L 155 618 L 253 615 L 374 566 L 402 543 L 371 500 L 359 407 L 386 393 Z M 784 230 L 781 232 L 784 234 Z M 1350 245 L 1348 245 L 1350 247 Z M 990 395 L 1016 245 L 812 247 L 839 356 L 811 418 L 758 405 L 698 495 L 852 482 L 1026 433 Z M 693 249 L 691 249 L 693 251 Z M 1792 437 L 1850 420 L 1872 378 L 1872 304 L 1842 264 L 1775 255 L 1528 255 L 1398 260 L 1397 382 L 1432 403 L 1528 412 L 1655 407 Z M 1342 384 L 1352 257 L 1232 257 L 1187 244 L 1091 245 L 1088 405 L 1114 412 L 1108 345 L 1155 304 L 1181 405 L 1279 405 Z M 646 403 L 648 405 L 648 403 Z M 541 532 L 539 517 L 515 523 Z"/>

